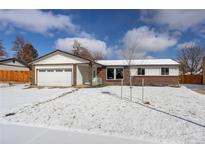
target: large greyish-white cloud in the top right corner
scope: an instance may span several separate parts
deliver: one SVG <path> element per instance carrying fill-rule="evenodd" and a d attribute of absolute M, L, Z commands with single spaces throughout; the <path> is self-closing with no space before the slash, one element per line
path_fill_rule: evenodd
<path fill-rule="evenodd" d="M 185 31 L 205 23 L 205 10 L 143 11 L 141 20 Z"/>

